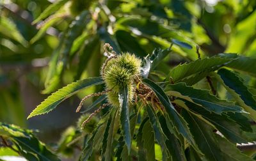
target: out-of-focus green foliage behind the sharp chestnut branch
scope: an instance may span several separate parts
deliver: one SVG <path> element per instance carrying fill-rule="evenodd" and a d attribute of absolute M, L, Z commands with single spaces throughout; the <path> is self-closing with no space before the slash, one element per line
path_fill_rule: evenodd
<path fill-rule="evenodd" d="M 75 125 L 79 98 L 95 88 L 45 116 L 26 117 L 56 89 L 99 76 L 104 43 L 139 57 L 172 45 L 157 67 L 163 75 L 197 59 L 196 46 L 201 57 L 256 57 L 255 9 L 250 0 L 0 0 L 0 121 L 40 128 L 43 141 L 56 142 L 61 130 Z"/>

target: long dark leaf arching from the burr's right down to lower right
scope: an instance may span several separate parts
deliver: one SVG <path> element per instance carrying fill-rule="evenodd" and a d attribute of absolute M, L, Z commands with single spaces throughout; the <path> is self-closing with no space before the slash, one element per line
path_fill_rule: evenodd
<path fill-rule="evenodd" d="M 143 79 L 142 82 L 154 91 L 157 98 L 159 99 L 161 104 L 164 106 L 164 109 L 168 113 L 169 118 L 172 120 L 173 126 L 177 128 L 178 132 L 183 137 L 185 137 L 192 146 L 196 148 L 195 141 L 189 131 L 186 121 L 174 109 L 173 105 L 171 104 L 168 96 L 164 93 L 163 89 L 159 87 L 156 83 L 150 81 L 149 79 Z"/>

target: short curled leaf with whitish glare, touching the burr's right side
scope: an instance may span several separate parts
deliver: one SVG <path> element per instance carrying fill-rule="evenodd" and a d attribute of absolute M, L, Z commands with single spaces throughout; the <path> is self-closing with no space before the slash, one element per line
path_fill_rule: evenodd
<path fill-rule="evenodd" d="M 141 67 L 141 76 L 147 78 L 150 71 L 154 70 L 164 57 L 166 57 L 171 52 L 170 49 L 155 49 L 152 54 L 143 57 L 143 66 Z"/>

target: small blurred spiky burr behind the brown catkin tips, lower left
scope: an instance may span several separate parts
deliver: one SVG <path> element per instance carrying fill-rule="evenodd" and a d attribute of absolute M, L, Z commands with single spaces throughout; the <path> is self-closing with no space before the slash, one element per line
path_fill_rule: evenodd
<path fill-rule="evenodd" d="M 80 116 L 80 118 L 77 120 L 77 128 L 81 128 L 82 123 L 89 117 L 88 114 L 83 114 Z M 86 126 L 83 128 L 84 132 L 87 132 L 88 134 L 92 133 L 92 131 L 97 127 L 97 124 L 99 122 L 99 119 L 96 117 L 93 117 L 90 122 L 86 124 Z"/>

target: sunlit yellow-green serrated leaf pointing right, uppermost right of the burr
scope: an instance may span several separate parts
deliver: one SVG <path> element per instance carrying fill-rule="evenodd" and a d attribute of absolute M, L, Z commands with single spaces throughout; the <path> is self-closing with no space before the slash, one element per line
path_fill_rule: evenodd
<path fill-rule="evenodd" d="M 182 81 L 182 79 L 199 72 L 212 72 L 217 70 L 230 61 L 232 61 L 232 58 L 225 58 L 220 56 L 197 59 L 191 63 L 184 63 L 182 65 L 176 66 L 171 70 L 169 76 L 172 77 L 173 82 L 179 82 Z"/>

